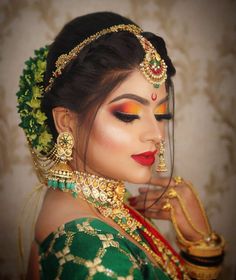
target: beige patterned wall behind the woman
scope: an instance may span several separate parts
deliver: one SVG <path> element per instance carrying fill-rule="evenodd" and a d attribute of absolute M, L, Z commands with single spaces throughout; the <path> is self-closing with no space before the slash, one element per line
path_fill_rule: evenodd
<path fill-rule="evenodd" d="M 236 1 L 0 1 L 0 279 L 18 279 L 19 213 L 37 180 L 18 128 L 24 61 L 63 24 L 99 10 L 121 13 L 166 39 L 178 75 L 176 173 L 192 180 L 227 242 L 222 279 L 235 279 Z M 167 235 L 173 238 L 168 229 Z"/>

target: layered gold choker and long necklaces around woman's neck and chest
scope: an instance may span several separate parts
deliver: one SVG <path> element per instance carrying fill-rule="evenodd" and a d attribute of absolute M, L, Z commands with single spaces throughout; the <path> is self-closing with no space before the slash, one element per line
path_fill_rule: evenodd
<path fill-rule="evenodd" d="M 74 171 L 76 178 L 75 188 L 62 191 L 72 192 L 74 197 L 81 197 L 94 206 L 103 216 L 111 218 L 127 234 L 129 234 L 140 246 L 145 249 L 154 260 L 171 276 L 177 278 L 178 267 L 183 278 L 189 279 L 184 272 L 184 267 L 179 263 L 179 259 L 166 248 L 161 240 L 153 236 L 144 226 L 134 219 L 129 210 L 124 205 L 125 185 L 122 181 L 103 178 L 97 175 Z M 51 187 L 51 186 L 49 186 Z M 144 231 L 156 244 L 160 255 L 155 253 L 140 236 L 139 231 Z M 163 256 L 163 257 L 161 257 Z M 175 267 L 176 266 L 176 267 Z"/>

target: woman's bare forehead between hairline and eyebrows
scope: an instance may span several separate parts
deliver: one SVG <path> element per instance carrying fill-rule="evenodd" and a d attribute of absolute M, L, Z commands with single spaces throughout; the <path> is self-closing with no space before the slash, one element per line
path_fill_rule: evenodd
<path fill-rule="evenodd" d="M 109 94 L 105 103 L 109 103 L 123 94 L 134 94 L 147 99 L 151 103 L 153 103 L 152 94 L 156 94 L 155 103 L 158 103 L 167 95 L 167 92 L 165 84 L 162 84 L 158 89 L 154 88 L 139 70 L 134 70 L 124 82 Z"/>

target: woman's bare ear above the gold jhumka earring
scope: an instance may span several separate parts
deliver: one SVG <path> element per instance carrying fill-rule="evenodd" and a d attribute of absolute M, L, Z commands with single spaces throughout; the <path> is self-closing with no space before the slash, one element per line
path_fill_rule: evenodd
<path fill-rule="evenodd" d="M 75 132 L 75 113 L 64 107 L 56 107 L 52 110 L 54 124 L 58 133 L 68 131 Z"/>

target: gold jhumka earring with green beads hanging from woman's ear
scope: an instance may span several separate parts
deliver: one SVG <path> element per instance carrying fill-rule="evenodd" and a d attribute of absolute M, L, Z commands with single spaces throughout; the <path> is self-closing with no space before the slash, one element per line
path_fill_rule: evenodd
<path fill-rule="evenodd" d="M 62 132 L 57 137 L 55 145 L 55 164 L 50 169 L 48 176 L 48 186 L 59 188 L 63 191 L 73 190 L 75 187 L 75 174 L 68 162 L 72 160 L 72 150 L 74 138 L 69 132 Z"/>

